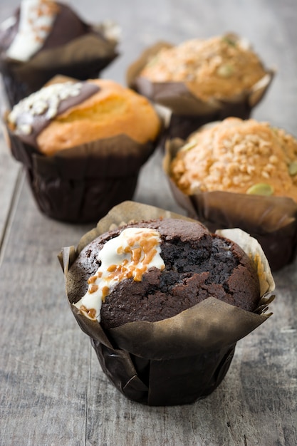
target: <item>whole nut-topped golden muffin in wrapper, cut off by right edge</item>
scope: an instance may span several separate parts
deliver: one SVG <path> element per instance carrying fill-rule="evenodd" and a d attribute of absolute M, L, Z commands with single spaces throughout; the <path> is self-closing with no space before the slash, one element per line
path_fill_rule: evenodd
<path fill-rule="evenodd" d="M 256 120 L 226 118 L 168 144 L 165 170 L 179 204 L 212 229 L 241 227 L 261 240 L 273 269 L 297 243 L 297 140 Z"/>

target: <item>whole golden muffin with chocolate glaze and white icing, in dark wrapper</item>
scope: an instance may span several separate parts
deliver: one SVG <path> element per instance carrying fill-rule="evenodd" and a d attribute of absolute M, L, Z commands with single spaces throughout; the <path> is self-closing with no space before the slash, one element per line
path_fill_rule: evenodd
<path fill-rule="evenodd" d="M 97 221 L 132 198 L 161 126 L 146 98 L 107 79 L 56 78 L 6 114 L 38 206 L 67 222 Z"/>

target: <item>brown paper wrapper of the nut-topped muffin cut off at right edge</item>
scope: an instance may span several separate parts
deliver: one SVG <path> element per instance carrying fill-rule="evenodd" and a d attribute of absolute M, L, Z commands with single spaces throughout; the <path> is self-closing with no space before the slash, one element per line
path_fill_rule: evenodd
<path fill-rule="evenodd" d="M 170 177 L 170 164 L 184 140 L 167 141 L 163 167 L 174 198 L 211 232 L 241 228 L 258 240 L 272 271 L 290 264 L 297 254 L 297 204 L 291 198 L 234 192 L 197 192 L 185 195 Z"/>

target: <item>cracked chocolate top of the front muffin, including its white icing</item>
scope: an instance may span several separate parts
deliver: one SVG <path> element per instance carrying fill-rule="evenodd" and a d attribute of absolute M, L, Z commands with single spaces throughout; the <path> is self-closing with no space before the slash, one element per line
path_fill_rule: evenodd
<path fill-rule="evenodd" d="M 182 219 L 137 222 L 101 235 L 80 252 L 68 281 L 75 284 L 70 301 L 105 329 L 170 318 L 210 296 L 254 311 L 260 297 L 249 256 Z"/>

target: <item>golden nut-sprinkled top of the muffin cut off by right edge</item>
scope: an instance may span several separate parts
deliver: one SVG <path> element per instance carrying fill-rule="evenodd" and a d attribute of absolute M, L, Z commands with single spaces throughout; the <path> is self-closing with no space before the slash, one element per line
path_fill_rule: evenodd
<path fill-rule="evenodd" d="M 193 133 L 170 169 L 187 195 L 220 190 L 297 202 L 297 140 L 254 119 L 226 118 Z"/>

